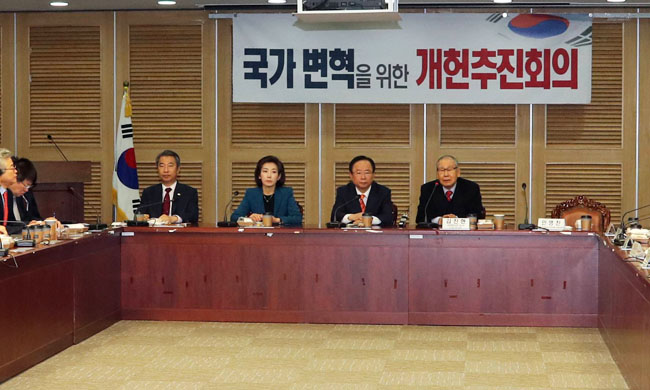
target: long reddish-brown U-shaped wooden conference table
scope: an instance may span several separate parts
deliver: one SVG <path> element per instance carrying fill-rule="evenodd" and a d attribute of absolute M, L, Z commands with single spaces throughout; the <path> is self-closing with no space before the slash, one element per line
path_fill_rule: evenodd
<path fill-rule="evenodd" d="M 126 319 L 599 327 L 650 388 L 650 274 L 591 232 L 129 227 L 10 260 L 0 381 Z"/>

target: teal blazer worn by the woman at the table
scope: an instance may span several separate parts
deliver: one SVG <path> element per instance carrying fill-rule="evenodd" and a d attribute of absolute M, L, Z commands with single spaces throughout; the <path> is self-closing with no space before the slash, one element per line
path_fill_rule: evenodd
<path fill-rule="evenodd" d="M 244 199 L 230 216 L 231 221 L 237 221 L 239 217 L 246 217 L 252 213 L 264 214 L 264 192 L 262 187 L 254 187 L 246 190 Z M 275 187 L 273 200 L 273 216 L 280 218 L 283 225 L 302 225 L 302 213 L 296 199 L 293 197 L 293 188 Z"/>

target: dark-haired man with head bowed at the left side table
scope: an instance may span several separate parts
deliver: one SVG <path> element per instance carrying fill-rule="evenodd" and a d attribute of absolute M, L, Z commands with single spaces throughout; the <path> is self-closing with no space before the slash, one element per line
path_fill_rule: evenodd
<path fill-rule="evenodd" d="M 13 158 L 17 169 L 16 182 L 9 186 L 13 194 L 13 212 L 16 220 L 31 223 L 40 221 L 41 214 L 34 194 L 29 189 L 36 185 L 36 167 L 26 158 Z"/>

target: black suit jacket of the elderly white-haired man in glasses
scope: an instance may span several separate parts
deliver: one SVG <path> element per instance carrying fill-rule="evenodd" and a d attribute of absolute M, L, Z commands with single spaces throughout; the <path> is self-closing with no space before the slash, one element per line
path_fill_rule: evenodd
<path fill-rule="evenodd" d="M 468 214 L 476 214 L 478 218 L 485 218 L 485 210 L 481 201 L 481 189 L 478 184 L 459 177 L 456 182 L 454 196 L 451 198 L 451 202 L 448 202 L 442 184 L 438 184 L 438 187 L 436 187 L 436 183 L 439 183 L 438 180 L 424 183 L 420 187 L 420 204 L 418 205 L 416 222 L 424 222 L 424 206 L 434 189 L 435 192 L 426 210 L 426 218 L 429 220 L 427 222 L 445 214 L 454 214 L 460 218 L 467 217 Z"/>

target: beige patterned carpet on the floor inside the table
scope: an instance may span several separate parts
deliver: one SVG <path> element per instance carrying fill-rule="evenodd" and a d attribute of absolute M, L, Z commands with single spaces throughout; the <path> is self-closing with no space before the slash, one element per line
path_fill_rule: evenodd
<path fill-rule="evenodd" d="M 122 321 L 0 390 L 618 390 L 598 329 Z"/>

